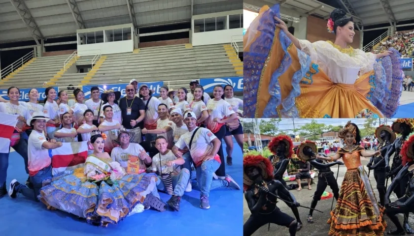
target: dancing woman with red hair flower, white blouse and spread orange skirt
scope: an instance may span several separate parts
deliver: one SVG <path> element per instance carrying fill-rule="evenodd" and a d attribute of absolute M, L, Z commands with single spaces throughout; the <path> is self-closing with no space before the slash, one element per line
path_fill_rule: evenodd
<path fill-rule="evenodd" d="M 244 117 L 395 115 L 403 81 L 400 54 L 392 48 L 380 54 L 353 49 L 348 45 L 354 28 L 352 17 L 335 9 L 328 20 L 335 42 L 311 43 L 288 31 L 278 4 L 262 7 L 243 40 Z"/>

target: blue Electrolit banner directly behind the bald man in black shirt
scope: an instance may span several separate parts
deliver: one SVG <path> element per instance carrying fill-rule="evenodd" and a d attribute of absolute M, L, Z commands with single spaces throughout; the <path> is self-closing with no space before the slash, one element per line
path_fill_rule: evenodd
<path fill-rule="evenodd" d="M 138 83 L 138 88 L 141 85 L 147 85 L 149 89 L 154 89 L 155 93 L 153 93 L 152 95 L 154 96 L 159 96 L 160 95 L 160 89 L 161 87 L 164 85 L 163 81 L 157 81 L 157 82 L 140 82 Z M 83 93 L 85 93 L 85 99 L 89 99 L 91 98 L 91 88 L 97 86 L 99 88 L 99 90 L 102 92 L 104 92 L 105 90 L 108 89 L 113 89 L 114 91 L 120 91 L 121 92 L 121 97 L 125 97 L 127 94 L 125 92 L 125 88 L 127 87 L 127 85 L 129 84 L 113 84 L 113 85 L 84 85 L 82 86 L 82 91 Z"/>

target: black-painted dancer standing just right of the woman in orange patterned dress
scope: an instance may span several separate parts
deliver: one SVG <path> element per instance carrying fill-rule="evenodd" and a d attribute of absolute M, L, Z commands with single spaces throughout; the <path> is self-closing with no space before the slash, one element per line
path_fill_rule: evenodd
<path fill-rule="evenodd" d="M 380 125 L 375 130 L 375 137 L 380 141 L 380 144 L 375 148 L 380 150 L 381 155 L 373 156 L 370 159 L 367 167 L 369 170 L 374 170 L 375 181 L 377 181 L 377 189 L 380 195 L 380 204 L 384 207 L 385 196 L 385 155 L 394 143 L 396 136 L 389 125 Z"/>

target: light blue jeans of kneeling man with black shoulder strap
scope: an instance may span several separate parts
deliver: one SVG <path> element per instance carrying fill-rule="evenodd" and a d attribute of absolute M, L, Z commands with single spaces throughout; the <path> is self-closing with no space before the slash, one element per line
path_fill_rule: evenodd
<path fill-rule="evenodd" d="M 197 183 L 200 188 L 200 197 L 208 197 L 210 190 L 215 188 L 227 187 L 229 182 L 225 179 L 213 179 L 213 173 L 218 169 L 220 163 L 216 160 L 203 162 L 201 166 L 196 167 Z"/>

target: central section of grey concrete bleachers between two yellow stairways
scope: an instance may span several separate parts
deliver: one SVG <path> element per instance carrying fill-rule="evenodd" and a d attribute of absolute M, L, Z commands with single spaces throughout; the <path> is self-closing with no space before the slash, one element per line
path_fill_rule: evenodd
<path fill-rule="evenodd" d="M 88 84 L 171 81 L 173 88 L 188 87 L 200 78 L 237 75 L 222 44 L 141 48 L 135 53 L 111 54 Z M 165 83 L 168 85 L 168 82 Z"/>

